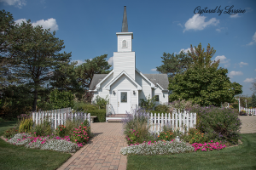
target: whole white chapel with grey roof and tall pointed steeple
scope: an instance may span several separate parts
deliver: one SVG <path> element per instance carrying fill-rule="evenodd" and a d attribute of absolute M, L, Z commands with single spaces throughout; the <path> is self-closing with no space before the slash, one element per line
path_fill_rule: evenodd
<path fill-rule="evenodd" d="M 140 99 L 153 98 L 156 104 L 168 102 L 168 77 L 166 74 L 143 74 L 136 68 L 136 55 L 132 51 L 133 32 L 128 31 L 126 7 L 122 31 L 117 32 L 117 52 L 113 52 L 113 71 L 95 74 L 90 83 L 90 92 L 106 98 L 111 107 L 110 115 L 125 114 L 139 107 Z M 108 119 L 108 118 L 107 118 Z M 107 120 L 108 121 L 108 120 Z"/>

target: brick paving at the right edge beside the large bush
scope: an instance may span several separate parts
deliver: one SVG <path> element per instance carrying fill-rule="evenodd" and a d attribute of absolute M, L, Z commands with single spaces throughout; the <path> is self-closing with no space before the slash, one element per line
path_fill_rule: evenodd
<path fill-rule="evenodd" d="M 256 133 L 256 116 L 238 116 L 241 119 L 241 133 Z"/>

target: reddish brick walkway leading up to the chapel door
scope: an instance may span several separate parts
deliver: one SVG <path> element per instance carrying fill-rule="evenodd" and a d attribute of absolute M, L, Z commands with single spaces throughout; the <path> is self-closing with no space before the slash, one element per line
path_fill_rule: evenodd
<path fill-rule="evenodd" d="M 84 145 L 59 170 L 72 169 L 126 169 L 127 158 L 119 153 L 127 146 L 120 122 L 91 124 L 96 136 Z"/>

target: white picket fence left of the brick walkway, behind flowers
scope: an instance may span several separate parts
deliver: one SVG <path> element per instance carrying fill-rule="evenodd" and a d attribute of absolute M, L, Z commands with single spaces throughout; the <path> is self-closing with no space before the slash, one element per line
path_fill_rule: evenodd
<path fill-rule="evenodd" d="M 90 124 L 90 113 L 80 113 L 71 111 L 71 108 L 57 109 L 53 111 L 38 111 L 32 112 L 32 120 L 37 124 L 40 124 L 44 119 L 49 119 L 52 127 L 55 129 L 59 125 L 65 125 L 67 118 L 71 120 L 83 117 L 84 121 L 88 120 Z"/>

